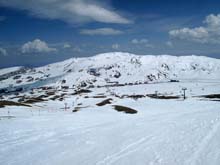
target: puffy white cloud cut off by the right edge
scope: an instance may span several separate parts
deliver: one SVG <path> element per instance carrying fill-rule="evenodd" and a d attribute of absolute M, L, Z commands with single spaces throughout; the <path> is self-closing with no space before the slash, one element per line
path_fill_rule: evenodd
<path fill-rule="evenodd" d="M 220 14 L 210 14 L 203 21 L 205 26 L 182 28 L 169 31 L 172 38 L 198 43 L 220 44 Z"/>

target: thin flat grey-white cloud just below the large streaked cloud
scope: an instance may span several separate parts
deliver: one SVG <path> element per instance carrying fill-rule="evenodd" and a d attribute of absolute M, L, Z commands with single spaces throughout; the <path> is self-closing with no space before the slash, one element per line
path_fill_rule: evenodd
<path fill-rule="evenodd" d="M 119 35 L 123 32 L 112 28 L 99 28 L 99 29 L 83 29 L 80 34 L 84 35 Z"/>

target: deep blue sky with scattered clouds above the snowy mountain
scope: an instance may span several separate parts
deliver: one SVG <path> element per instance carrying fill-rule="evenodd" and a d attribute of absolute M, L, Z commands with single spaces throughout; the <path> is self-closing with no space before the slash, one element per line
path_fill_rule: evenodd
<path fill-rule="evenodd" d="M 109 51 L 220 58 L 218 0 L 0 0 L 0 67 Z"/>

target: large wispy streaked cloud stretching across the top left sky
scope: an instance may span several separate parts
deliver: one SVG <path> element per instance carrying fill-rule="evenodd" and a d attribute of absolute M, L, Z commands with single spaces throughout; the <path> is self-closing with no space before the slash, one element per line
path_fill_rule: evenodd
<path fill-rule="evenodd" d="M 1 0 L 0 6 L 26 10 L 35 17 L 59 19 L 68 23 L 131 23 L 103 3 L 98 0 Z"/>

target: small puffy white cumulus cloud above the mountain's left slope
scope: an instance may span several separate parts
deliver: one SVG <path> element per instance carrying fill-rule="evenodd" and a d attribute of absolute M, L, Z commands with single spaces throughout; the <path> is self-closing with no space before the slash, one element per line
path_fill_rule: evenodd
<path fill-rule="evenodd" d="M 39 39 L 29 41 L 21 47 L 22 53 L 48 53 L 52 51 L 57 51 L 57 49 L 50 48 L 46 42 Z"/>

